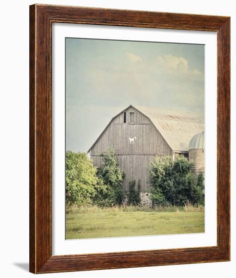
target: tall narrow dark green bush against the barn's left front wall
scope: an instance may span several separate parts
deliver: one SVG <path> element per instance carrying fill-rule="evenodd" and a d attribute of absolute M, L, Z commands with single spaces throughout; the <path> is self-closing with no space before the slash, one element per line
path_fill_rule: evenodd
<path fill-rule="evenodd" d="M 118 164 L 114 149 L 110 148 L 101 155 L 101 158 L 103 167 L 99 170 L 99 174 L 108 188 L 106 202 L 112 206 L 121 205 L 124 199 L 124 193 L 121 188 L 124 173 Z"/>

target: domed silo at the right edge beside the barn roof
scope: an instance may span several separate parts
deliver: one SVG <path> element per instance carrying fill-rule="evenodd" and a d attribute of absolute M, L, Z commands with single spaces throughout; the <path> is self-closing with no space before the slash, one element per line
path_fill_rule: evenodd
<path fill-rule="evenodd" d="M 188 145 L 188 159 L 190 162 L 194 163 L 193 172 L 195 175 L 195 180 L 197 181 L 198 175 L 200 172 L 204 174 L 205 166 L 205 138 L 204 131 L 197 133 L 191 139 L 190 144 Z"/>

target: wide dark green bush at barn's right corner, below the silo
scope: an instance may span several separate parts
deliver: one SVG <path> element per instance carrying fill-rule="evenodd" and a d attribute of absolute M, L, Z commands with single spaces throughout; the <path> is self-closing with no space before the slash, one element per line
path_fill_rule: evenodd
<path fill-rule="evenodd" d="M 162 206 L 203 204 L 203 175 L 196 184 L 192 166 L 183 156 L 179 156 L 174 162 L 170 156 L 156 157 L 150 170 L 154 203 Z"/>

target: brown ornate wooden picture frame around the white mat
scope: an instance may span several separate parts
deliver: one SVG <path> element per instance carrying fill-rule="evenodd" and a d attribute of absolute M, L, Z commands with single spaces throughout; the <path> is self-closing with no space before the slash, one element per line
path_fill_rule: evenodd
<path fill-rule="evenodd" d="M 52 256 L 52 24 L 217 32 L 217 246 Z M 230 259 L 230 18 L 68 6 L 30 6 L 30 272 Z"/>

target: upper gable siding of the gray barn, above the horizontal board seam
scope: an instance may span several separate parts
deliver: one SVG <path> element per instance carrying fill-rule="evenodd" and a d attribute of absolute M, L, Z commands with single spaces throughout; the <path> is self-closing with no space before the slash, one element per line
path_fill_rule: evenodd
<path fill-rule="evenodd" d="M 129 115 L 134 109 L 127 109 Z M 100 155 L 113 147 L 117 155 L 172 155 L 161 134 L 152 122 L 143 114 L 135 110 L 133 124 L 123 123 L 123 113 L 118 115 L 108 125 L 96 144 L 91 148 L 91 156 Z M 122 121 L 121 121 L 122 120 Z M 141 123 L 143 120 L 144 123 Z M 136 136 L 134 145 L 129 144 L 129 137 Z"/>

